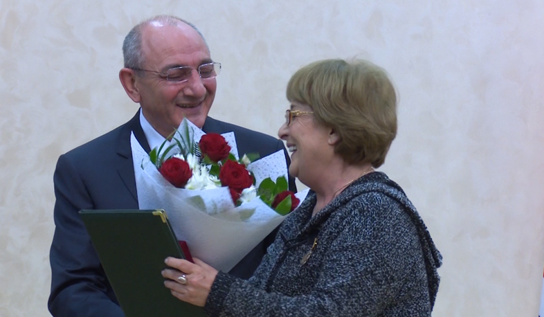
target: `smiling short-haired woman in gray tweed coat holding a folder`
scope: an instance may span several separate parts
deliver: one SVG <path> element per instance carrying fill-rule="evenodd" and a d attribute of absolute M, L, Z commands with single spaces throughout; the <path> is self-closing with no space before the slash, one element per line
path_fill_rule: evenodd
<path fill-rule="evenodd" d="M 385 71 L 314 62 L 293 75 L 287 99 L 278 134 L 307 198 L 250 280 L 168 258 L 166 287 L 210 316 L 430 316 L 442 257 L 399 185 L 374 171 L 397 133 Z"/>

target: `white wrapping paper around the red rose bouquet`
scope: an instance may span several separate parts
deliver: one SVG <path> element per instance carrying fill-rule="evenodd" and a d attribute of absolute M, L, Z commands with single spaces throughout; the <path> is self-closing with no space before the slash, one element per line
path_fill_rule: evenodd
<path fill-rule="evenodd" d="M 196 142 L 203 132 L 194 126 L 193 129 Z M 237 156 L 234 134 L 222 135 Z M 191 255 L 219 271 L 230 271 L 285 218 L 258 198 L 235 208 L 228 188 L 175 188 L 149 161 L 134 134 L 131 135 L 131 147 L 139 208 L 164 209 L 176 237 L 187 242 Z M 248 170 L 255 174 L 257 187 L 266 177 L 270 176 L 274 181 L 278 176 L 287 177 L 283 151 L 251 163 Z M 306 194 L 307 190 L 296 196 L 302 201 Z"/>

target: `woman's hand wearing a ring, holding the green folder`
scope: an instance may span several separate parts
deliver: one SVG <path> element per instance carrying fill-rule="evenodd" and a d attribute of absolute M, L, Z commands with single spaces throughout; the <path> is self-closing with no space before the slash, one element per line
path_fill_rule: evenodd
<path fill-rule="evenodd" d="M 161 273 L 168 279 L 164 284 L 173 296 L 192 305 L 204 307 L 217 270 L 197 258 L 193 260 L 194 264 L 187 260 L 167 257 L 166 265 L 174 269 L 164 269 Z"/>

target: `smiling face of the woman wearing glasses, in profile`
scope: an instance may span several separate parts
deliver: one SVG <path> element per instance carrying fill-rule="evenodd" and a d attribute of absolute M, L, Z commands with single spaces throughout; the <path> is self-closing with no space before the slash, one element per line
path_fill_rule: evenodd
<path fill-rule="evenodd" d="M 329 145 L 329 134 L 332 129 L 314 120 L 314 114 L 302 113 L 296 116 L 296 111 L 312 109 L 300 102 L 291 102 L 293 116 L 291 123 L 284 123 L 278 131 L 278 136 L 287 142 L 291 152 L 289 174 L 311 187 L 311 182 L 319 179 L 323 168 L 330 163 L 334 147 Z M 287 115 L 286 115 L 287 116 Z"/>

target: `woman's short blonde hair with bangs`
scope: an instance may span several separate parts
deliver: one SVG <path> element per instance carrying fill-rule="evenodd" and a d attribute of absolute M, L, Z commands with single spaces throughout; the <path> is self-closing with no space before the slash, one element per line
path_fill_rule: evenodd
<path fill-rule="evenodd" d="M 366 60 L 321 60 L 299 69 L 287 99 L 309 105 L 341 137 L 334 151 L 348 163 L 386 160 L 397 135 L 397 95 L 385 70 Z"/>

